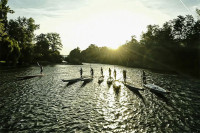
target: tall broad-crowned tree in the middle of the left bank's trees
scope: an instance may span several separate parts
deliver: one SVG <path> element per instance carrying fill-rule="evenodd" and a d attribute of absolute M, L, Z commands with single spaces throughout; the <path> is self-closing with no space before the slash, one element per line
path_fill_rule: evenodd
<path fill-rule="evenodd" d="M 32 62 L 34 31 L 38 28 L 39 25 L 35 24 L 32 18 L 18 17 L 9 21 L 8 34 L 18 42 L 21 49 L 20 64 Z"/>

